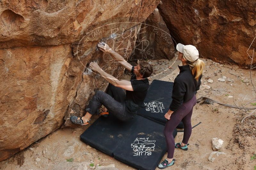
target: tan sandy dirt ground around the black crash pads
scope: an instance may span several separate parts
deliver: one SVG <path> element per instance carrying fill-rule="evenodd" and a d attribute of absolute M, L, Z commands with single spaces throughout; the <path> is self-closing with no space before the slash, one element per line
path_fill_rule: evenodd
<path fill-rule="evenodd" d="M 239 106 L 243 100 L 243 103 L 247 103 L 256 99 L 251 81 L 249 80 L 246 84 L 247 79 L 250 78 L 249 70 L 237 66 L 221 65 L 212 60 L 203 60 L 206 67 L 197 98 L 207 96 L 221 103 L 234 105 L 235 102 Z M 178 60 L 153 60 L 150 62 L 154 70 L 156 70 L 150 82 L 154 79 L 173 81 L 179 73 L 177 65 L 180 62 Z M 170 65 L 172 65 L 172 69 L 168 68 Z M 255 74 L 256 71 L 253 71 L 253 80 L 256 78 Z M 227 77 L 225 81 L 218 81 L 222 76 Z M 124 75 L 123 78 L 126 79 L 129 76 Z M 213 83 L 207 82 L 208 79 L 213 80 Z M 256 81 L 254 83 L 256 84 Z M 198 106 L 198 109 L 196 109 L 196 106 L 192 115 L 192 126 L 199 122 L 202 123 L 192 130 L 188 151 L 176 149 L 174 153 L 176 162 L 174 166 L 166 169 L 255 170 L 256 159 L 251 160 L 251 157 L 256 153 L 256 117 L 248 117 L 245 119 L 244 124 L 241 124 L 243 117 L 246 115 L 238 109 L 220 106 L 216 103 L 202 104 Z M 247 106 L 253 107 L 251 104 Z M 93 117 L 90 124 L 96 119 L 97 116 Z M 0 162 L 0 169 L 86 170 L 110 164 L 114 164 L 119 170 L 134 169 L 81 142 L 80 135 L 87 128 L 88 126 L 54 131 L 19 154 Z M 175 142 L 180 142 L 182 137 L 183 133 L 178 132 Z M 213 162 L 208 160 L 210 153 L 213 152 L 212 138 L 220 138 L 224 141 L 220 152 L 225 153 L 216 157 Z M 17 163 L 20 155 L 24 155 L 22 166 Z M 163 159 L 166 158 L 166 155 L 164 155 Z M 67 161 L 70 158 L 74 159 L 73 162 Z"/>

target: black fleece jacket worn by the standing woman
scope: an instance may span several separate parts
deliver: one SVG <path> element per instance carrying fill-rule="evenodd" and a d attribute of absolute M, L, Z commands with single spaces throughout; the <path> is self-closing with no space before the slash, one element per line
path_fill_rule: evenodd
<path fill-rule="evenodd" d="M 178 66 L 180 74 L 174 80 L 172 89 L 172 103 L 169 107 L 170 110 L 176 111 L 183 104 L 188 102 L 196 94 L 201 85 L 202 75 L 199 77 L 198 82 L 192 74 L 189 65 Z"/>

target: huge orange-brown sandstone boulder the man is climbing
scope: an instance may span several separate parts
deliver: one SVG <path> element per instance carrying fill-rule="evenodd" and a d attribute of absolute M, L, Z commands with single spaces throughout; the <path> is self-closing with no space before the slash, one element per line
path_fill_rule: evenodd
<path fill-rule="evenodd" d="M 107 42 L 127 59 L 140 22 L 158 3 L 1 1 L 0 161 L 59 128 L 71 112 L 82 114 L 94 90 L 106 89 L 89 62 L 121 76 L 123 68 L 97 43 Z"/>

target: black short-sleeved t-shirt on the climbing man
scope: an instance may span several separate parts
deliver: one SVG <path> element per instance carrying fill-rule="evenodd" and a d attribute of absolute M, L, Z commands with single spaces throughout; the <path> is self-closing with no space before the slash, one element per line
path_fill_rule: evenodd
<path fill-rule="evenodd" d="M 126 111 L 131 114 L 136 114 L 146 98 L 149 82 L 147 78 L 136 80 L 135 74 L 132 74 L 130 81 L 133 91 L 126 90 Z"/>

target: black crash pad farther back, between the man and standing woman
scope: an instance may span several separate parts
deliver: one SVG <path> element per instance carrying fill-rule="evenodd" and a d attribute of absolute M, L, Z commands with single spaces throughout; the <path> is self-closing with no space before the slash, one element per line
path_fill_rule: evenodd
<path fill-rule="evenodd" d="M 148 88 L 144 105 L 138 110 L 138 114 L 165 124 L 167 119 L 164 115 L 172 103 L 172 87 L 173 82 L 153 80 Z M 184 128 L 184 124 L 180 122 L 177 128 Z"/>

